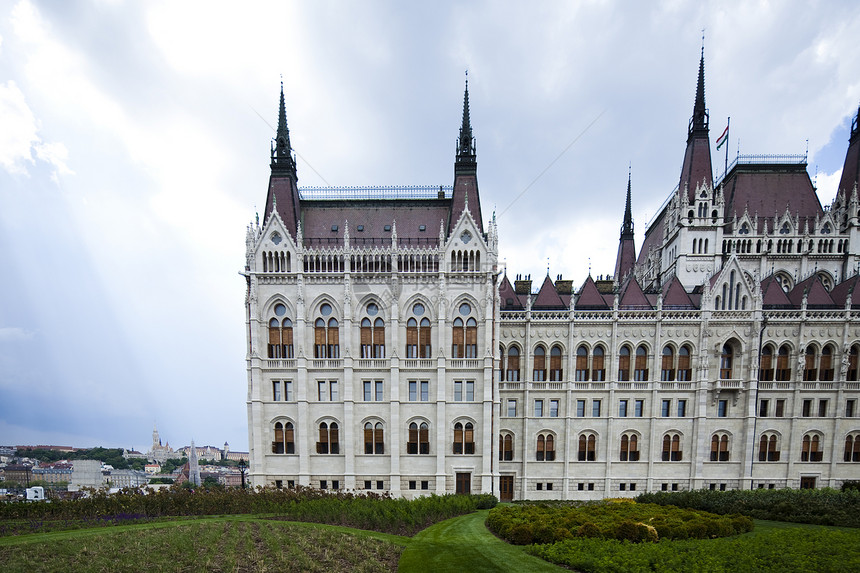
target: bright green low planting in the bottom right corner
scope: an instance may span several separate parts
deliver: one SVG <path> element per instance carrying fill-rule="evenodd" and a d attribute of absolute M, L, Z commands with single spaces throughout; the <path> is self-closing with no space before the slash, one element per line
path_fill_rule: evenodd
<path fill-rule="evenodd" d="M 860 532 L 791 528 L 709 541 L 636 545 L 578 538 L 552 545 L 532 545 L 526 551 L 584 573 L 823 573 L 860 571 L 859 544 Z"/>

